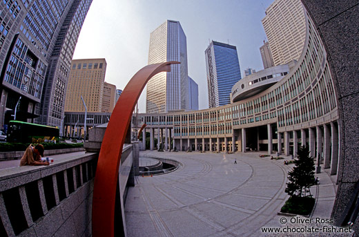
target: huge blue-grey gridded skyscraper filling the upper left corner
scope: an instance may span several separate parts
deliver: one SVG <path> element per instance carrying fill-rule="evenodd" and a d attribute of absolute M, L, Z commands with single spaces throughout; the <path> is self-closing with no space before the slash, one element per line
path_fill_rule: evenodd
<path fill-rule="evenodd" d="M 39 122 L 43 114 L 44 124 L 61 124 L 70 61 L 91 2 L 0 2 L 0 128 L 14 119 L 15 106 L 17 120 Z"/>

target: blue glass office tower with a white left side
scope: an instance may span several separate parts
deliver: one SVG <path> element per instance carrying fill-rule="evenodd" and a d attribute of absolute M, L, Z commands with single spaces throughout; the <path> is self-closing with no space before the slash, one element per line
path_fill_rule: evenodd
<path fill-rule="evenodd" d="M 242 77 L 237 48 L 211 41 L 205 51 L 209 108 L 231 103 L 231 90 Z"/>

